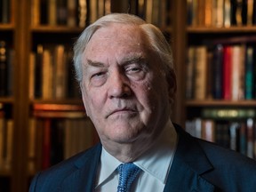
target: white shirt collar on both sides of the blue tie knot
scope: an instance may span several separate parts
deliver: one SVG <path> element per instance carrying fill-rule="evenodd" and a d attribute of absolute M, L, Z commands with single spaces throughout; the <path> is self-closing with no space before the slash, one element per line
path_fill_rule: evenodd
<path fill-rule="evenodd" d="M 133 164 L 136 164 L 144 172 L 152 175 L 157 180 L 165 183 L 168 173 L 171 168 L 172 159 L 176 150 L 177 133 L 171 120 L 168 120 L 164 127 L 164 131 L 156 140 L 153 148 L 140 156 Z M 104 164 L 102 164 L 104 162 Z M 157 164 L 156 164 L 157 162 Z M 98 185 L 102 182 L 110 180 L 116 172 L 116 167 L 122 164 L 114 156 L 111 156 L 108 151 L 102 147 L 100 156 L 100 169 Z"/>

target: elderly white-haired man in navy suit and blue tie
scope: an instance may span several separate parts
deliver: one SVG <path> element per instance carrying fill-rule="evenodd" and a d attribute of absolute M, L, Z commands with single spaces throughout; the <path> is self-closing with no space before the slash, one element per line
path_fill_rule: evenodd
<path fill-rule="evenodd" d="M 136 16 L 85 28 L 76 78 L 100 143 L 34 178 L 30 191 L 256 191 L 256 163 L 172 124 L 172 51 Z"/>

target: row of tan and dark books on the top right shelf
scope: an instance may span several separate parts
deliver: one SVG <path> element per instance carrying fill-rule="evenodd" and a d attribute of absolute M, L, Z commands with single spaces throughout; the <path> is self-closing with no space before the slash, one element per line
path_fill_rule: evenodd
<path fill-rule="evenodd" d="M 256 24 L 255 0 L 187 0 L 188 26 L 229 28 Z"/>

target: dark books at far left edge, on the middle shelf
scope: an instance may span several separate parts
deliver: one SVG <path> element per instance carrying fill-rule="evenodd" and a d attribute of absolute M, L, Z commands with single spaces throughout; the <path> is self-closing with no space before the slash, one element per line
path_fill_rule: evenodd
<path fill-rule="evenodd" d="M 12 96 L 14 50 L 0 40 L 0 97 Z"/>

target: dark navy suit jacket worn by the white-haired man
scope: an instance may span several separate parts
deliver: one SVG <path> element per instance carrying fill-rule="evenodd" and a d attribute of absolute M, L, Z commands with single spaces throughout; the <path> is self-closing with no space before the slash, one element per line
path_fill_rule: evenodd
<path fill-rule="evenodd" d="M 164 192 L 256 192 L 256 161 L 175 129 L 179 142 Z M 100 151 L 98 144 L 38 173 L 29 191 L 93 191 Z"/>

